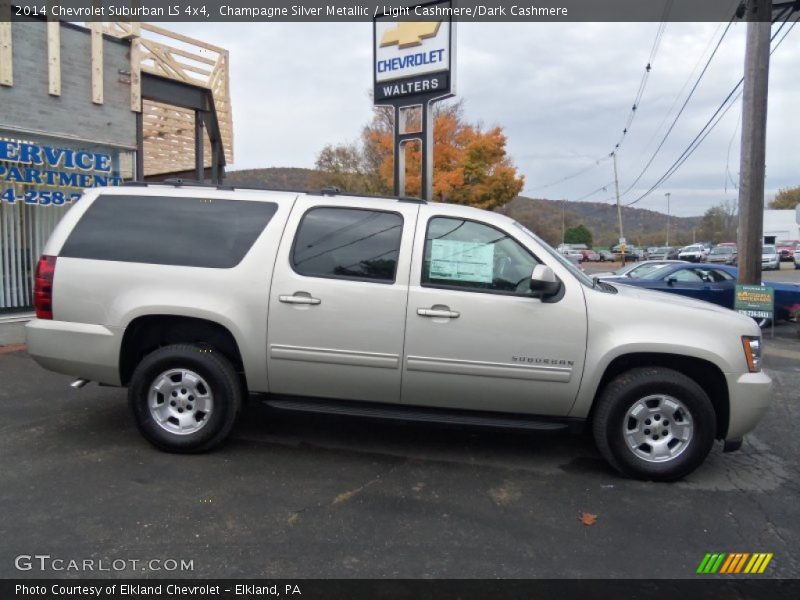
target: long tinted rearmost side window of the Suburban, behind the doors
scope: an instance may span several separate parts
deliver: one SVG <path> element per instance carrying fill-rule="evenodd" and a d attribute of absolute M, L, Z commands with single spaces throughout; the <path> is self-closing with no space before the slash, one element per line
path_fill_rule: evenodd
<path fill-rule="evenodd" d="M 277 209 L 246 200 L 100 196 L 61 256 L 226 269 L 239 264 Z"/>

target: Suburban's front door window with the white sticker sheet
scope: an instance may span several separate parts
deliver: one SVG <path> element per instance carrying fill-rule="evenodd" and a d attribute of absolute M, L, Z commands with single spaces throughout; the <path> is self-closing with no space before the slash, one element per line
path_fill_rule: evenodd
<path fill-rule="evenodd" d="M 499 229 L 436 217 L 428 222 L 425 236 L 422 285 L 530 296 L 537 264 L 527 249 Z"/>

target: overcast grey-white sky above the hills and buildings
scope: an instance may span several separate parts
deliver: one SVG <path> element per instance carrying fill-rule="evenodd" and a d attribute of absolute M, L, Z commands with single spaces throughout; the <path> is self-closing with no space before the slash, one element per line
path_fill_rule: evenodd
<path fill-rule="evenodd" d="M 325 144 L 355 140 L 371 118 L 367 95 L 372 83 L 371 23 L 170 23 L 167 27 L 230 50 L 236 154 L 232 169 L 312 167 Z M 575 200 L 613 181 L 611 161 L 602 160 L 578 177 L 548 186 L 595 165 L 613 149 L 658 27 L 658 23 L 458 25 L 458 97 L 464 100 L 470 121 L 505 129 L 508 152 L 525 175 L 525 194 Z M 623 202 L 650 188 L 738 82 L 745 28 L 744 23 L 731 28 L 667 143 Z M 701 59 L 704 64 L 722 29 L 716 23 L 666 26 L 619 153 L 623 191 L 663 137 L 694 83 L 696 75 L 691 80 L 690 75 Z M 775 52 L 770 69 L 768 199 L 781 187 L 800 185 L 800 26 Z M 727 191 L 725 185 L 726 169 L 738 184 L 740 118 L 741 100 L 686 164 L 637 206 L 665 211 L 665 192 L 671 192 L 672 213 L 677 215 L 702 214 L 721 201 L 735 201 L 737 192 L 730 180 Z M 586 199 L 610 202 L 613 193 L 610 185 Z"/>

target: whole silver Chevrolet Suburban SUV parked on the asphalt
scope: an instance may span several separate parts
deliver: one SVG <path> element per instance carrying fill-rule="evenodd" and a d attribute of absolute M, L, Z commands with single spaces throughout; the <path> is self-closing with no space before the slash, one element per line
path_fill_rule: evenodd
<path fill-rule="evenodd" d="M 588 425 L 674 480 L 741 444 L 771 381 L 752 319 L 593 280 L 452 204 L 213 186 L 88 191 L 36 273 L 31 356 L 126 386 L 144 437 L 199 452 L 246 398 L 531 430 Z M 653 318 L 658 315 L 658 318 Z"/>

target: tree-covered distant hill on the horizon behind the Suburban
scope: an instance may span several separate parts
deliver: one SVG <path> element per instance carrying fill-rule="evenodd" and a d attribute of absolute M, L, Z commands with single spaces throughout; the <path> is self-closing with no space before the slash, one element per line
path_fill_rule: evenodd
<path fill-rule="evenodd" d="M 316 170 L 294 167 L 244 169 L 229 171 L 225 175 L 225 183 L 231 185 L 291 190 L 312 190 L 315 189 L 315 186 L 318 187 L 319 181 L 320 174 Z M 561 243 L 562 222 L 566 228 L 581 223 L 588 227 L 597 246 L 615 244 L 619 238 L 617 207 L 613 204 L 563 202 L 517 196 L 498 209 L 498 212 L 516 219 L 553 245 Z M 699 223 L 700 217 L 672 217 L 670 220 L 670 243 L 673 245 L 690 243 L 692 229 Z M 625 237 L 630 243 L 640 246 L 664 243 L 667 215 L 663 213 L 642 208 L 623 207 L 622 224 Z"/>

